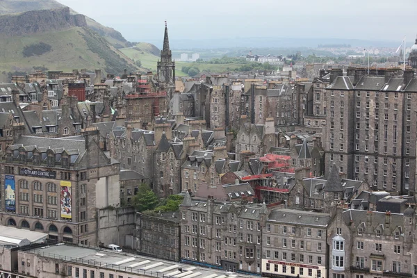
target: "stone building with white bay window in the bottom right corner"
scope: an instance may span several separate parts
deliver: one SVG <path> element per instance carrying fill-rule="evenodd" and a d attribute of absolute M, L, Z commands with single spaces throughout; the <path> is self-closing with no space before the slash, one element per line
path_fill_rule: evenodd
<path fill-rule="evenodd" d="M 345 210 L 329 227 L 329 277 L 413 277 L 414 208 L 403 214 Z"/>

